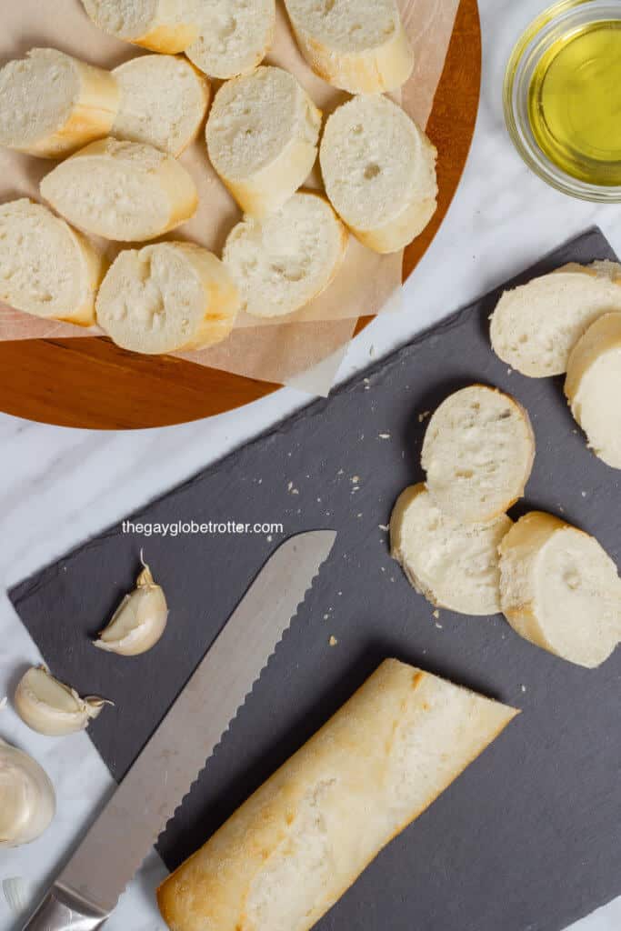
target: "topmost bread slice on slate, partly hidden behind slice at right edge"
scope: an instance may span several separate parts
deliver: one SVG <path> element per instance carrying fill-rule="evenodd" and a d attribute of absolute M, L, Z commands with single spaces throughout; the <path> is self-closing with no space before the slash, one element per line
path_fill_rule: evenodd
<path fill-rule="evenodd" d="M 621 265 L 563 265 L 505 291 L 492 316 L 493 351 L 530 378 L 561 375 L 582 334 L 610 311 L 621 311 Z"/>

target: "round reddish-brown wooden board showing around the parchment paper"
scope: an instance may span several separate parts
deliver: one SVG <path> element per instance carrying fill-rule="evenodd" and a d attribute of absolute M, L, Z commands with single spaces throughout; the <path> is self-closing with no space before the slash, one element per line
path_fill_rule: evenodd
<path fill-rule="evenodd" d="M 446 216 L 466 165 L 481 70 L 477 0 L 461 0 L 427 131 L 439 150 L 439 209 L 404 256 L 412 274 Z M 357 332 L 372 317 L 360 317 Z M 102 338 L 0 343 L 0 410 L 99 430 L 182 424 L 231 411 L 280 385 L 172 357 L 125 352 Z"/>

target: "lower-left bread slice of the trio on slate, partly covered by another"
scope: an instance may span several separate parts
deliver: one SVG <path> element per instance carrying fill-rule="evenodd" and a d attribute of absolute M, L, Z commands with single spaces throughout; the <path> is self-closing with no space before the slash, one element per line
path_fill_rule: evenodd
<path fill-rule="evenodd" d="M 498 545 L 512 526 L 503 514 L 485 525 L 443 514 L 424 484 L 406 488 L 390 519 L 390 547 L 411 585 L 439 608 L 459 614 L 500 609 Z"/>

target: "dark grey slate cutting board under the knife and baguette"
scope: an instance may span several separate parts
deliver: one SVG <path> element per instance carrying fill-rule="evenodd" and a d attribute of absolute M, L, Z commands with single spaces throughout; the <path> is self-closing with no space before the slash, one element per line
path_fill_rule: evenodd
<path fill-rule="evenodd" d="M 614 253 L 593 229 L 509 284 L 607 258 Z M 282 521 L 284 536 L 339 532 L 290 632 L 160 838 L 170 868 L 386 656 L 523 709 L 320 931 L 558 931 L 621 894 L 621 650 L 587 671 L 520 640 L 499 615 L 436 618 L 390 560 L 382 529 L 398 492 L 422 478 L 419 415 L 479 381 L 514 394 L 533 419 L 533 477 L 515 513 L 536 506 L 564 516 L 621 561 L 619 473 L 587 451 L 561 379 L 529 380 L 495 358 L 488 317 L 498 293 L 133 518 Z M 52 671 L 115 700 L 90 735 L 116 779 L 278 542 L 265 534 L 141 538 L 117 526 L 10 592 Z M 166 636 L 136 659 L 101 654 L 88 638 L 131 587 L 141 546 L 169 598 Z"/>

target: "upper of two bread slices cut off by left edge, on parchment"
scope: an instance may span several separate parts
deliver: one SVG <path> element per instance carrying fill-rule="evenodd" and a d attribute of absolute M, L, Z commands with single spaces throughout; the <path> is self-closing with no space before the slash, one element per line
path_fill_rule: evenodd
<path fill-rule="evenodd" d="M 107 136 L 118 100 L 109 72 L 55 48 L 32 48 L 0 71 L 0 145 L 60 158 Z"/>

